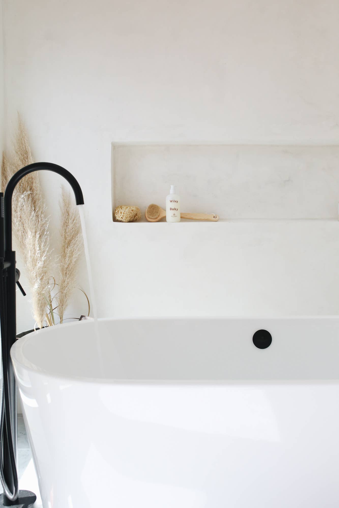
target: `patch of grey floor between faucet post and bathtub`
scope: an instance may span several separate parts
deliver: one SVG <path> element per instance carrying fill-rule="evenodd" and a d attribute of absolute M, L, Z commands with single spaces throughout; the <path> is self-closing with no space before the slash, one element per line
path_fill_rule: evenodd
<path fill-rule="evenodd" d="M 18 416 L 18 475 L 19 488 L 33 491 L 37 495 L 34 508 L 42 508 L 37 475 L 35 473 L 32 453 L 21 415 Z M 0 493 L 1 492 L 3 492 L 3 488 L 0 484 Z"/>

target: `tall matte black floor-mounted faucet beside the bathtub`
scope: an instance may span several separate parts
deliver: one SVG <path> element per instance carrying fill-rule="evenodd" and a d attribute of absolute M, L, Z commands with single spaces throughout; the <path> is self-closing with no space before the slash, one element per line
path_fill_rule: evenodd
<path fill-rule="evenodd" d="M 80 185 L 66 169 L 56 164 L 39 162 L 17 171 L 7 184 L 5 195 L 0 193 L 0 329 L 3 362 L 3 394 L 0 425 L 0 480 L 4 494 L 0 506 L 31 506 L 36 495 L 19 491 L 16 467 L 17 456 L 17 400 L 16 384 L 10 350 L 16 340 L 16 291 L 15 284 L 24 295 L 19 283 L 20 272 L 15 266 L 12 250 L 12 196 L 16 184 L 33 171 L 47 170 L 63 176 L 71 185 L 77 205 L 83 205 Z"/>

